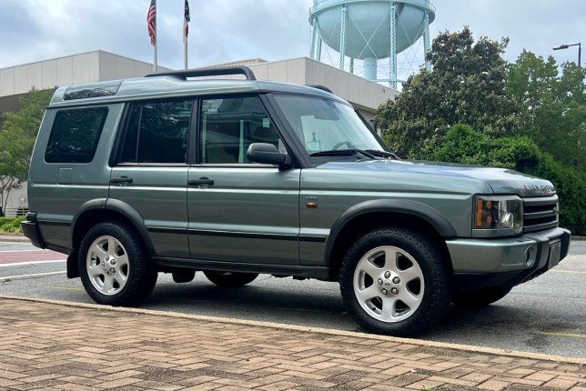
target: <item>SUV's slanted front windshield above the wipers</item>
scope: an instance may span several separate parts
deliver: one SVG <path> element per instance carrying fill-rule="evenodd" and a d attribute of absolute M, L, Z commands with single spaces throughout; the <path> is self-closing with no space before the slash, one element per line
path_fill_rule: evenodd
<path fill-rule="evenodd" d="M 297 95 L 275 100 L 309 155 L 324 151 L 384 150 L 349 105 Z"/>

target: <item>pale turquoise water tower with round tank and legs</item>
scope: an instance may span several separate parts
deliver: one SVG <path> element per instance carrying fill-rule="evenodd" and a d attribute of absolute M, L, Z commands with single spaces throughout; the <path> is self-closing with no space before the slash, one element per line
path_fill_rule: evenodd
<path fill-rule="evenodd" d="M 339 53 L 339 68 L 354 73 L 354 60 L 364 62 L 364 77 L 397 88 L 397 54 L 423 36 L 429 51 L 429 24 L 435 7 L 429 0 L 313 0 L 309 9 L 311 58 L 321 61 L 321 45 Z M 389 58 L 389 79 L 377 75 L 379 60 Z M 430 69 L 428 62 L 426 69 Z"/>

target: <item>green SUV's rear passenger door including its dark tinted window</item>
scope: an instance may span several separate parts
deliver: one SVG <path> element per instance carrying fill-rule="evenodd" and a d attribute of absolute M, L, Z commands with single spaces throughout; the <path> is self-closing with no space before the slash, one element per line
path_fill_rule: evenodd
<path fill-rule="evenodd" d="M 193 99 L 131 103 L 110 198 L 144 220 L 157 256 L 189 257 L 187 243 L 187 151 Z"/>

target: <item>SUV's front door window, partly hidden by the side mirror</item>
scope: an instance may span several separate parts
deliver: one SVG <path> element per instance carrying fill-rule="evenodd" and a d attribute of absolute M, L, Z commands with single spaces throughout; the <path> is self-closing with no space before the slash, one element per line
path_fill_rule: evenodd
<path fill-rule="evenodd" d="M 258 96 L 204 99 L 199 155 L 204 164 L 245 164 L 252 143 L 279 143 Z"/>

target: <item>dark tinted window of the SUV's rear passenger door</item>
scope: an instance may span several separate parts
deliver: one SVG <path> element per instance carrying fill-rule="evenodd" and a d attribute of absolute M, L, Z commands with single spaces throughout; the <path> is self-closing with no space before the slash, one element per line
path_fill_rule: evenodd
<path fill-rule="evenodd" d="M 187 163 L 192 106 L 192 100 L 133 104 L 120 162 Z"/>

